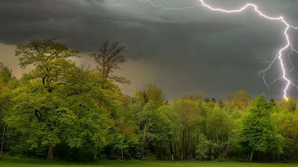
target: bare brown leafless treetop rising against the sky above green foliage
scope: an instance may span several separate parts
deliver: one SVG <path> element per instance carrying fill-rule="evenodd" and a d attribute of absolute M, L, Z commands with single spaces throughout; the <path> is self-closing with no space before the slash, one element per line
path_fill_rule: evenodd
<path fill-rule="evenodd" d="M 121 54 L 126 47 L 119 46 L 118 42 L 114 42 L 112 45 L 109 45 L 109 43 L 109 41 L 103 42 L 98 53 L 90 53 L 89 56 L 94 58 L 94 61 L 97 63 L 96 70 L 105 78 L 121 84 L 130 85 L 130 80 L 113 74 L 114 71 L 121 70 L 119 64 L 128 62 Z"/>

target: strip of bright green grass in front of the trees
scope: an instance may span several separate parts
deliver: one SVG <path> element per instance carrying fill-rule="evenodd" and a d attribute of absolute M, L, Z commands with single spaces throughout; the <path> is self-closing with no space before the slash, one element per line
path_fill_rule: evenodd
<path fill-rule="evenodd" d="M 187 161 L 93 161 L 84 163 L 51 162 L 34 159 L 2 159 L 1 167 L 297 167 L 298 163 L 240 163 L 240 162 L 187 162 Z"/>

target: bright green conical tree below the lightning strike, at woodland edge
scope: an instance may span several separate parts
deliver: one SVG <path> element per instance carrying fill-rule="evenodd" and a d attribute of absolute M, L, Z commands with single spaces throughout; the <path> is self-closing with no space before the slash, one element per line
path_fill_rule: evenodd
<path fill-rule="evenodd" d="M 251 147 L 249 161 L 252 161 L 253 152 L 265 152 L 267 148 L 281 152 L 282 136 L 277 134 L 270 117 L 271 105 L 265 95 L 259 95 L 247 108 L 242 117 L 243 140 Z"/>

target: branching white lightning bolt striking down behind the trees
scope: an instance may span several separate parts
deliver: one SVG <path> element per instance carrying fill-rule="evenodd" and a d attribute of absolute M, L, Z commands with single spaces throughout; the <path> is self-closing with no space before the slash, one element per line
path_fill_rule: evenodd
<path fill-rule="evenodd" d="M 242 7 L 242 8 L 240 8 L 240 9 L 238 9 L 238 10 L 225 10 L 224 8 L 222 8 L 221 6 L 219 6 L 218 4 L 215 4 L 215 5 L 213 5 L 213 6 L 209 6 L 209 5 L 207 5 L 207 4 L 205 4 L 204 3 L 204 1 L 203 0 L 198 0 L 198 1 L 200 1 L 201 2 L 201 4 L 195 4 L 194 6 L 191 6 L 191 7 L 183 7 L 183 8 L 171 8 L 171 7 L 164 7 L 163 5 L 155 5 L 155 4 L 153 4 L 150 0 L 138 0 L 138 1 L 141 1 L 141 2 L 148 2 L 148 3 L 150 3 L 152 6 L 154 6 L 154 7 L 162 7 L 163 9 L 165 9 L 165 10 L 184 10 L 184 9 L 192 9 L 192 8 L 195 8 L 195 7 L 206 7 L 207 9 L 209 9 L 209 10 L 214 10 L 214 11 L 219 11 L 219 12 L 221 12 L 221 16 L 222 16 L 222 13 L 224 12 L 224 13 L 236 13 L 236 12 L 241 12 L 241 11 L 243 11 L 243 10 L 245 10 L 246 8 L 248 8 L 248 7 L 253 7 L 254 8 L 254 11 L 255 12 L 257 12 L 259 15 L 261 15 L 262 17 L 264 17 L 264 18 L 267 18 L 267 19 L 270 19 L 270 20 L 278 20 L 278 21 L 280 21 L 281 23 L 283 23 L 284 25 L 285 25 L 285 30 L 284 30 L 284 35 L 285 35 L 285 38 L 286 38 L 286 40 L 287 40 L 287 45 L 285 45 L 282 49 L 280 49 L 280 51 L 277 53 L 277 55 L 275 56 L 275 58 L 274 58 L 274 60 L 273 61 L 265 61 L 265 62 L 270 62 L 270 65 L 265 69 L 265 70 L 261 70 L 259 73 L 258 73 L 258 76 L 260 77 L 260 76 L 263 76 L 262 78 L 263 78 L 263 81 L 264 81 L 264 83 L 266 84 L 266 86 L 268 87 L 268 91 L 270 91 L 270 85 L 272 85 L 275 81 L 277 81 L 277 80 L 280 80 L 280 79 L 283 79 L 283 80 L 285 80 L 286 82 L 287 82 L 287 85 L 285 86 L 285 89 L 284 89 L 284 99 L 285 100 L 287 100 L 288 98 L 287 98 L 287 90 L 288 90 L 288 87 L 289 86 L 294 86 L 294 87 L 296 87 L 296 89 L 298 90 L 298 86 L 296 86 L 294 83 L 292 83 L 287 77 L 286 77 L 286 70 L 285 70 L 285 67 L 284 67 L 284 64 L 283 64 L 283 52 L 287 49 L 287 48 L 290 48 L 291 49 L 291 52 L 290 53 L 288 53 L 288 59 L 290 60 L 290 64 L 291 64 L 291 66 L 292 66 L 292 69 L 291 70 L 288 70 L 288 71 L 292 71 L 293 69 L 294 69 L 294 65 L 292 64 L 292 62 L 291 62 L 291 59 L 290 59 L 290 54 L 291 53 L 293 53 L 293 52 L 296 52 L 296 53 L 298 53 L 297 52 L 297 50 L 295 50 L 294 48 L 293 48 L 293 45 L 291 45 L 291 43 L 290 43 L 290 40 L 289 40 L 289 36 L 288 36 L 288 34 L 287 34 L 287 32 L 288 32 L 288 30 L 289 29 L 296 29 L 296 30 L 298 30 L 298 27 L 297 26 L 291 26 L 290 24 L 288 24 L 285 20 L 284 20 L 284 18 L 282 17 L 282 16 L 280 16 L 280 17 L 277 17 L 277 18 L 272 18 L 272 17 L 269 17 L 269 16 L 267 16 L 267 15 L 264 15 L 262 12 L 260 12 L 258 9 L 257 9 L 257 6 L 256 5 L 254 5 L 254 4 L 246 4 L 244 7 Z M 215 6 L 219 6 L 219 8 L 216 8 Z M 297 4 L 296 4 L 296 6 L 297 6 Z M 295 7 L 296 7 L 295 6 Z M 295 7 L 294 7 L 294 13 L 295 13 Z M 222 18 L 223 18 L 223 16 L 222 16 Z M 223 19 L 221 20 L 221 22 L 223 21 Z M 218 22 L 220 22 L 220 21 L 216 21 L 216 23 L 218 23 Z M 199 39 L 199 37 L 200 37 L 200 35 L 201 34 L 211 34 L 213 31 L 215 31 L 215 25 L 216 25 L 216 23 L 213 25 L 213 30 L 212 31 L 210 31 L 210 32 L 205 32 L 205 33 L 200 33 L 199 35 L 198 35 L 198 37 L 195 39 L 195 40 L 193 40 L 192 42 L 192 44 L 194 45 L 194 42 L 195 41 L 197 41 L 198 39 Z M 187 42 L 188 43 L 188 42 Z M 270 67 L 271 67 L 271 65 L 275 62 L 275 61 L 277 61 L 277 60 L 279 60 L 280 61 L 280 69 L 281 69 L 281 71 L 282 71 L 282 73 L 283 73 L 283 75 L 280 77 L 280 78 L 277 78 L 277 79 L 275 79 L 273 82 L 271 82 L 271 83 L 267 83 L 266 82 L 266 80 L 265 80 L 265 73 L 266 73 L 266 71 L 268 70 L 268 69 L 270 69 Z"/>

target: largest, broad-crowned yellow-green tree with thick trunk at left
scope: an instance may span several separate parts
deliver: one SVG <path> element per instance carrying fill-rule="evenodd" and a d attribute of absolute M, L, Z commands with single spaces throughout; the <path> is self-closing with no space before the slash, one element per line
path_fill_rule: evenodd
<path fill-rule="evenodd" d="M 8 125 L 27 137 L 31 148 L 49 146 L 47 159 L 53 159 L 55 146 L 65 142 L 71 148 L 82 146 L 87 138 L 96 147 L 106 144 L 109 127 L 107 108 L 119 88 L 100 73 L 76 66 L 69 57 L 79 51 L 55 39 L 32 40 L 17 45 L 21 67 L 35 68 L 21 78 L 13 92 L 16 104 Z M 109 89 L 102 89 L 102 85 Z"/>

